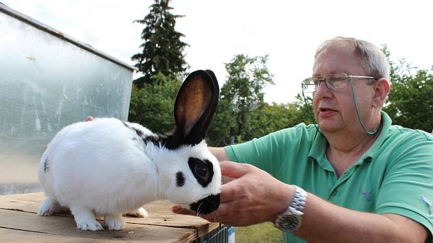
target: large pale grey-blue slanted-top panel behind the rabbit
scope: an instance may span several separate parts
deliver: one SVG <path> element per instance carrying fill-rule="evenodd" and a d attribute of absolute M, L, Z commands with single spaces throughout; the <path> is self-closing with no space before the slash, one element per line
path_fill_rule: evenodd
<path fill-rule="evenodd" d="M 38 161 L 64 126 L 127 119 L 132 74 L 0 12 L 0 194 L 41 190 Z"/>

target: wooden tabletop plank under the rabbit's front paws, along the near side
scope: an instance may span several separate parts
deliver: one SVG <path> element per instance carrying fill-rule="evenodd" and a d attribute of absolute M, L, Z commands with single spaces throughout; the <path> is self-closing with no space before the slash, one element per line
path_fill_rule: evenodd
<path fill-rule="evenodd" d="M 120 231 L 82 231 L 76 229 L 74 220 L 61 216 L 41 217 L 35 213 L 0 209 L 0 228 L 23 232 L 45 233 L 57 238 L 67 235 L 82 240 L 128 241 L 128 242 L 190 242 L 196 239 L 194 229 L 161 227 L 145 224 L 126 224 Z M 9 232 L 9 237 L 21 232 Z M 23 234 L 23 237 L 26 237 Z M 1 240 L 6 240 L 3 235 Z M 57 239 L 56 238 L 56 239 Z M 12 239 L 13 240 L 13 239 Z M 55 240 L 57 241 L 57 240 Z"/>

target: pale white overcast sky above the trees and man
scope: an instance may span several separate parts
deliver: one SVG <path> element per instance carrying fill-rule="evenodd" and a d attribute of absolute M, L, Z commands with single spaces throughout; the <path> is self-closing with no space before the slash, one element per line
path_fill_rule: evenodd
<path fill-rule="evenodd" d="M 0 0 L 76 40 L 122 60 L 141 51 L 143 19 L 153 0 Z M 220 86 L 225 63 L 236 54 L 268 55 L 274 85 L 265 101 L 296 100 L 300 83 L 311 76 L 315 49 L 334 36 L 388 45 L 391 60 L 406 58 L 427 69 L 433 65 L 433 1 L 283 1 L 173 0 L 178 32 L 188 43 L 188 71 L 212 69 Z M 135 78 L 140 77 L 135 74 Z"/>

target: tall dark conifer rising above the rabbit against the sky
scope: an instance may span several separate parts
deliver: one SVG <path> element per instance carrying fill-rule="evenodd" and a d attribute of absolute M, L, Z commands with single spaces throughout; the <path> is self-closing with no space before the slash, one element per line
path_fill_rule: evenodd
<path fill-rule="evenodd" d="M 142 32 L 144 43 L 141 53 L 131 57 L 137 61 L 135 67 L 144 74 L 134 80 L 134 84 L 141 89 L 144 84 L 152 84 L 151 77 L 157 73 L 165 76 L 181 76 L 188 69 L 183 51 L 188 44 L 180 40 L 184 37 L 175 30 L 176 19 L 181 15 L 171 14 L 168 3 L 170 0 L 155 0 L 149 8 L 150 12 L 142 20 L 135 22 L 146 25 Z"/>

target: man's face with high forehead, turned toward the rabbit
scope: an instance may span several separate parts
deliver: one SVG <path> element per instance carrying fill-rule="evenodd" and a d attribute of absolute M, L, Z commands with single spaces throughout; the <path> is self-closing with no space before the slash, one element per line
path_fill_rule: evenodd
<path fill-rule="evenodd" d="M 330 73 L 366 76 L 366 71 L 353 48 L 344 44 L 328 47 L 315 59 L 313 76 L 324 76 Z M 364 79 L 353 78 L 353 88 L 357 98 L 357 107 L 364 122 L 364 118 L 367 119 L 371 115 L 373 86 L 367 85 Z M 349 83 L 343 89 L 330 90 L 324 82 L 321 82 L 319 90 L 313 93 L 313 111 L 323 132 L 362 130 L 357 119 Z"/>

